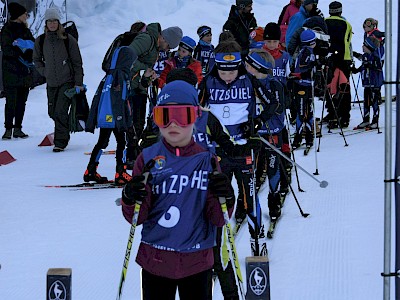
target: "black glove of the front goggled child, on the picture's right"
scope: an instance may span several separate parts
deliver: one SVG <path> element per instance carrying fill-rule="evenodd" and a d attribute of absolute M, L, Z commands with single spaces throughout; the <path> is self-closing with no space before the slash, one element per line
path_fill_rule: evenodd
<path fill-rule="evenodd" d="M 233 207 L 235 203 L 235 193 L 231 181 L 224 173 L 213 172 L 208 176 L 208 189 L 218 198 L 225 198 L 228 208 Z"/>

